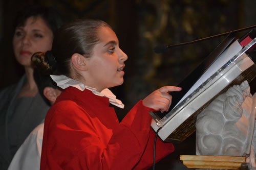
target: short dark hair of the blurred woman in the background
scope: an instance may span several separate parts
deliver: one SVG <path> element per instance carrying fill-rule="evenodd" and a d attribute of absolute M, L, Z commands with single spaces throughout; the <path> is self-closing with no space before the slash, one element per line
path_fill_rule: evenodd
<path fill-rule="evenodd" d="M 41 17 L 46 21 L 48 27 L 55 34 L 56 30 L 62 25 L 62 19 L 56 9 L 39 5 L 30 5 L 20 10 L 14 21 L 14 30 L 25 25 L 29 17 Z"/>

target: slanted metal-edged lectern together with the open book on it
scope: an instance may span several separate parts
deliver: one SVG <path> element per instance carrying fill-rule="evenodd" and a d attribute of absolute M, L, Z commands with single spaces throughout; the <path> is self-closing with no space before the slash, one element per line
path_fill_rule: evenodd
<path fill-rule="evenodd" d="M 167 112 L 150 112 L 152 128 L 167 142 L 183 141 L 195 132 L 197 115 L 235 84 L 256 77 L 256 65 L 248 52 L 256 46 L 255 31 L 236 39 L 230 33 L 215 50 L 171 92 L 172 107 Z M 256 80 L 256 79 L 254 79 Z"/>

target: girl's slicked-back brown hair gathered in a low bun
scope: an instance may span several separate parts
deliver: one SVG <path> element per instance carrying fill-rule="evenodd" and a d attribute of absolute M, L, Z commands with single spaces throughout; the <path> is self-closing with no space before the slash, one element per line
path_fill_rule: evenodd
<path fill-rule="evenodd" d="M 92 19 L 79 19 L 63 25 L 55 34 L 52 51 L 35 53 L 31 59 L 32 66 L 47 75 L 57 74 L 71 77 L 71 56 L 78 53 L 84 57 L 91 57 L 93 47 L 99 41 L 98 30 L 101 27 L 111 28 L 104 21 Z"/>

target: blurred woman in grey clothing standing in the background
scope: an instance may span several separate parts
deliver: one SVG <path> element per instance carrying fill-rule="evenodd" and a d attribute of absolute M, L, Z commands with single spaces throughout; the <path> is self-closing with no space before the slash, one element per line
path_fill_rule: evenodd
<path fill-rule="evenodd" d="M 49 106 L 38 93 L 31 56 L 51 50 L 62 21 L 53 8 L 29 6 L 16 17 L 13 51 L 25 75 L 17 84 L 0 91 L 0 169 L 7 169 L 17 149 L 45 118 Z"/>

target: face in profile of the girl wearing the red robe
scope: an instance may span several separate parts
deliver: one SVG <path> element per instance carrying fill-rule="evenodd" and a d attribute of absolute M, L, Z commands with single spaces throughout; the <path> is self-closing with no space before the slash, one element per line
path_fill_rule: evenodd
<path fill-rule="evenodd" d="M 91 58 L 86 58 L 88 77 L 85 80 L 86 85 L 101 91 L 123 83 L 127 55 L 119 48 L 119 41 L 112 29 L 99 28 L 98 38 L 99 42 L 94 46 Z"/>

